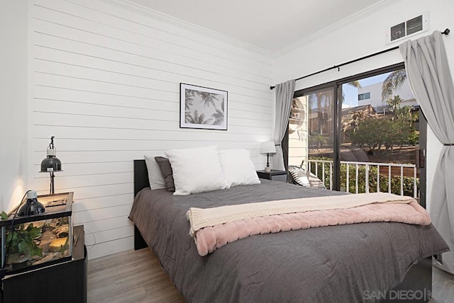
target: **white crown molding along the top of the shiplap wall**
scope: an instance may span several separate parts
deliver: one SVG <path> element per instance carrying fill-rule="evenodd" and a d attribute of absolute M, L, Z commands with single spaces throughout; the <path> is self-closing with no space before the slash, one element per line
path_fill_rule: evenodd
<path fill-rule="evenodd" d="M 180 28 L 191 30 L 194 33 L 198 33 L 200 35 L 207 35 L 216 40 L 221 40 L 223 42 L 230 43 L 237 47 L 245 48 L 252 52 L 258 52 L 261 55 L 272 57 L 272 55 L 274 54 L 273 52 L 264 50 L 261 47 L 256 47 L 255 45 L 251 45 L 247 42 L 243 42 L 241 40 L 231 38 L 227 35 L 223 35 L 214 30 L 209 30 L 208 28 L 204 28 L 204 27 L 196 25 L 194 23 L 184 21 L 184 20 L 176 18 L 174 16 L 167 15 L 166 13 L 161 13 L 160 11 L 155 11 L 153 8 L 142 6 L 140 4 L 136 4 L 135 2 L 131 2 L 128 0 L 100 0 L 100 1 L 121 7 L 123 9 L 127 9 L 129 11 L 133 11 L 134 13 L 140 13 L 143 16 L 155 18 L 157 20 L 164 21 L 166 23 L 171 23 L 173 25 L 177 25 Z"/>

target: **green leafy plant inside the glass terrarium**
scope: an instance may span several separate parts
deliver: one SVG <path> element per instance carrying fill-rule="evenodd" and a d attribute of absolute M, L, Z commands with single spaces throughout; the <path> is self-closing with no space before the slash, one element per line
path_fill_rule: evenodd
<path fill-rule="evenodd" d="M 6 212 L 0 213 L 1 219 L 8 219 Z M 11 253 L 30 253 L 30 256 L 43 256 L 43 249 L 35 244 L 35 239 L 42 236 L 41 229 L 34 227 L 33 223 L 19 224 L 14 229 L 6 230 L 6 246 L 9 246 Z"/>

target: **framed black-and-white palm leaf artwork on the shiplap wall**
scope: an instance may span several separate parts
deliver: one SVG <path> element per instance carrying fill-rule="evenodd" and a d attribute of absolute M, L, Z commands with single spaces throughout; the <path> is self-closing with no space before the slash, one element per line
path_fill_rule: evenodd
<path fill-rule="evenodd" d="M 227 130 L 227 91 L 179 84 L 179 127 Z"/>

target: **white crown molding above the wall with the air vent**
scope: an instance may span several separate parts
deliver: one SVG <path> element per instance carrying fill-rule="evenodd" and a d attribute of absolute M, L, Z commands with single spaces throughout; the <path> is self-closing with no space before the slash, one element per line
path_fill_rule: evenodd
<path fill-rule="evenodd" d="M 284 47 L 282 50 L 274 52 L 273 57 L 276 58 L 276 57 L 285 55 L 288 52 L 292 52 L 292 50 L 296 50 L 299 47 L 303 47 L 304 45 L 308 44 L 309 42 L 312 42 L 312 41 L 318 39 L 320 36 L 327 35 L 328 33 L 333 32 L 333 30 L 338 30 L 339 28 L 343 28 L 352 22 L 358 21 L 362 18 L 365 18 L 366 16 L 369 16 L 370 13 L 373 13 L 375 11 L 380 11 L 381 9 L 389 6 L 390 4 L 395 4 L 398 1 L 402 1 L 402 0 L 378 1 L 375 4 L 372 4 L 372 6 L 368 6 L 367 8 L 364 8 L 361 11 L 358 11 L 357 13 L 354 13 L 351 16 L 343 18 L 341 21 L 333 23 L 333 24 L 327 26 L 326 28 L 323 28 L 323 29 L 317 31 L 316 33 L 313 33 L 312 35 L 307 36 L 306 38 L 303 38 L 297 42 L 294 42 L 292 45 Z"/>

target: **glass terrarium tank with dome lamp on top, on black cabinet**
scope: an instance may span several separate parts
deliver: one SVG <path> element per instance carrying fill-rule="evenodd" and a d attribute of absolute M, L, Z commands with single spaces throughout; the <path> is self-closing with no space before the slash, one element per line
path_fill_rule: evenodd
<path fill-rule="evenodd" d="M 28 193 L 27 201 L 0 221 L 3 275 L 71 260 L 72 195 Z"/>

